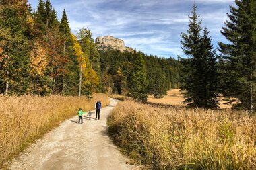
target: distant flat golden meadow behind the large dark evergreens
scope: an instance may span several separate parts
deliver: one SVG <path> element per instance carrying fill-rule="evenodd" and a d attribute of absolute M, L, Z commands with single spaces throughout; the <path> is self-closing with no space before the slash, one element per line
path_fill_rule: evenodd
<path fill-rule="evenodd" d="M 183 104 L 183 94 L 181 93 L 180 89 L 172 89 L 167 91 L 167 95 L 164 95 L 162 99 L 155 99 L 154 96 L 149 95 L 148 101 L 151 103 L 161 103 L 167 105 L 174 105 L 174 106 L 185 106 Z M 220 108 L 231 108 L 230 105 L 225 104 L 224 97 L 220 97 Z"/>

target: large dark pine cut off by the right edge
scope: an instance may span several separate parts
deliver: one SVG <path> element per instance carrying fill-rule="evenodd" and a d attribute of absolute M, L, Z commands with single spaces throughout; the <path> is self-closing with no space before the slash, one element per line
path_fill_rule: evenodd
<path fill-rule="evenodd" d="M 230 7 L 222 35 L 230 42 L 219 42 L 224 68 L 222 76 L 224 95 L 239 100 L 236 107 L 247 109 L 249 115 L 255 110 L 255 69 L 256 69 L 256 2 L 255 0 L 235 1 Z"/>

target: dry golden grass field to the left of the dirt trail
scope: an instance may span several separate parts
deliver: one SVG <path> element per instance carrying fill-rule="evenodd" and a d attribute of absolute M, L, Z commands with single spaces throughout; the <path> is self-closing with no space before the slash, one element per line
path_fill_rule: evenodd
<path fill-rule="evenodd" d="M 0 167 L 61 121 L 94 108 L 95 99 L 108 105 L 108 96 L 4 97 L 0 96 Z"/>

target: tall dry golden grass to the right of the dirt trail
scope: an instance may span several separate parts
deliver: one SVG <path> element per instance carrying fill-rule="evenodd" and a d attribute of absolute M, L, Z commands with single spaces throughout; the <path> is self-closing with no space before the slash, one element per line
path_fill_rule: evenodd
<path fill-rule="evenodd" d="M 124 101 L 109 124 L 125 153 L 150 169 L 256 169 L 256 119 L 243 111 Z"/>

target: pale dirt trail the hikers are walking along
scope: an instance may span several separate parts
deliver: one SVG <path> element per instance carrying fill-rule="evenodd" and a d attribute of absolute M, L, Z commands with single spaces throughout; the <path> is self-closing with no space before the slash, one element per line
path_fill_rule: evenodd
<path fill-rule="evenodd" d="M 84 124 L 77 124 L 78 116 L 63 122 L 14 159 L 10 169 L 138 169 L 127 164 L 107 134 L 106 118 L 117 100 L 100 112 L 100 120 L 84 116 Z"/>

